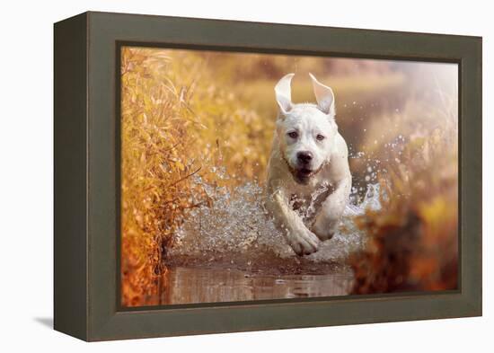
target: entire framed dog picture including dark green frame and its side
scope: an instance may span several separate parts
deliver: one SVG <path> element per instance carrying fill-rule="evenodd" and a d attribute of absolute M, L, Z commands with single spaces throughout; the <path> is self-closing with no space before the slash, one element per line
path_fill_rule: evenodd
<path fill-rule="evenodd" d="M 481 38 L 89 12 L 54 66 L 57 331 L 481 315 Z"/>

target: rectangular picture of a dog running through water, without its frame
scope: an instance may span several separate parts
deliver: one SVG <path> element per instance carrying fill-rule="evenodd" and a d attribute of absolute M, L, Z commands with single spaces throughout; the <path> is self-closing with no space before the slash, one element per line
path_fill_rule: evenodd
<path fill-rule="evenodd" d="M 458 288 L 458 66 L 120 49 L 124 307 Z"/>

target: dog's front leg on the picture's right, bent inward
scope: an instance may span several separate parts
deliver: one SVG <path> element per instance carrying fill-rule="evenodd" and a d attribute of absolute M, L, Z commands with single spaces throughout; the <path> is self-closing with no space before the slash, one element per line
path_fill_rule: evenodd
<path fill-rule="evenodd" d="M 315 216 L 312 231 L 322 241 L 331 239 L 340 224 L 340 218 L 348 203 L 351 177 L 340 181 L 336 189 L 323 202 Z"/>

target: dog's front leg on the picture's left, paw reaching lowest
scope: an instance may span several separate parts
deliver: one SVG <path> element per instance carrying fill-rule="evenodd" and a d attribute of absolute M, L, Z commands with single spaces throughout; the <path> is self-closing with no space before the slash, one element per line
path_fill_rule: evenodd
<path fill-rule="evenodd" d="M 277 190 L 270 194 L 266 207 L 274 216 L 278 228 L 285 231 L 287 242 L 297 255 L 308 255 L 317 251 L 319 239 L 307 229 L 300 216 L 289 207 L 288 199 L 282 191 Z"/>

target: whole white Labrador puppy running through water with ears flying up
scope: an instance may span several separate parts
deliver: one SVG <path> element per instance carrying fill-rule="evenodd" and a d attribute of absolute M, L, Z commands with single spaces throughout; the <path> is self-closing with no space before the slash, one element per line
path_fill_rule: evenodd
<path fill-rule="evenodd" d="M 268 165 L 266 207 L 298 255 L 316 252 L 320 240 L 331 238 L 351 188 L 348 147 L 334 120 L 334 95 L 309 75 L 317 105 L 292 103 L 294 74 L 275 86 L 279 114 Z"/>

